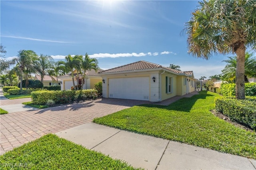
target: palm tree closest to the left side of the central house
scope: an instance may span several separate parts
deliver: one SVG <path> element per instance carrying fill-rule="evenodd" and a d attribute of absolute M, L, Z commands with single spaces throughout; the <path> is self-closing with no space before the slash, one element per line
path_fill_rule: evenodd
<path fill-rule="evenodd" d="M 98 60 L 95 59 L 95 58 L 90 58 L 89 55 L 86 53 L 83 60 L 82 60 L 80 68 L 83 71 L 83 81 L 82 81 L 82 84 L 81 84 L 81 90 L 82 90 L 83 86 L 84 86 L 84 80 L 85 80 L 85 77 L 86 77 L 86 71 L 94 69 L 97 72 L 97 70 L 99 68 L 98 67 Z"/>

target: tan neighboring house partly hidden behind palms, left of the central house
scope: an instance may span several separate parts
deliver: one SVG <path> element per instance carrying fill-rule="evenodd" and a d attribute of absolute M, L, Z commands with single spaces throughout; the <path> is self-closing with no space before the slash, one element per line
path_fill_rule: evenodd
<path fill-rule="evenodd" d="M 98 70 L 99 71 L 103 71 L 103 70 Z M 94 84 L 96 82 L 101 82 L 102 78 L 101 76 L 98 74 L 98 72 L 95 72 L 95 70 L 87 70 L 86 71 L 86 78 L 84 80 L 84 86 L 83 89 L 92 89 L 95 88 Z M 76 70 L 74 70 L 74 77 L 76 77 Z M 83 75 L 78 74 L 78 76 L 82 77 Z M 71 73 L 63 75 L 58 77 L 62 80 L 61 82 L 61 90 L 70 90 L 71 87 L 73 86 L 73 82 L 72 82 L 72 77 L 71 77 Z M 75 78 L 75 85 L 77 85 L 77 81 Z"/>

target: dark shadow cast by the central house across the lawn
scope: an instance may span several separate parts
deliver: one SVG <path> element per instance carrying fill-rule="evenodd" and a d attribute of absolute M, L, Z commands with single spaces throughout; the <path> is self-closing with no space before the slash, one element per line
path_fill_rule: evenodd
<path fill-rule="evenodd" d="M 206 99 L 206 97 L 208 96 L 213 96 L 213 95 L 207 94 L 207 91 L 202 91 L 200 92 L 200 94 L 194 95 L 191 98 L 181 98 L 180 100 L 173 102 L 168 106 L 160 106 L 160 105 L 152 105 L 152 104 L 142 104 L 140 106 L 190 112 L 190 110 L 192 109 L 192 107 L 194 106 L 197 100 Z"/>

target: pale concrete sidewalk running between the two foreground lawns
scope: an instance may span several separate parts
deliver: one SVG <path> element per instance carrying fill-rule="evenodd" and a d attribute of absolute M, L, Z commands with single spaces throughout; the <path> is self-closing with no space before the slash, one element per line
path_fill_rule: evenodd
<path fill-rule="evenodd" d="M 136 168 L 255 170 L 256 160 L 165 139 L 140 135 L 95 123 L 56 133 L 87 149 L 124 160 Z"/>

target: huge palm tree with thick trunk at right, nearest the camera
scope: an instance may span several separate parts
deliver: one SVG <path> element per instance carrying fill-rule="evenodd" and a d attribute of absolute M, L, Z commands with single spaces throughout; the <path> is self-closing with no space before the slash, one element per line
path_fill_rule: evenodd
<path fill-rule="evenodd" d="M 236 98 L 245 99 L 246 46 L 256 50 L 256 1 L 203 0 L 186 23 L 188 53 L 210 59 L 215 54 L 236 53 Z"/>

